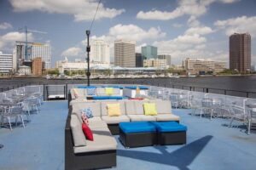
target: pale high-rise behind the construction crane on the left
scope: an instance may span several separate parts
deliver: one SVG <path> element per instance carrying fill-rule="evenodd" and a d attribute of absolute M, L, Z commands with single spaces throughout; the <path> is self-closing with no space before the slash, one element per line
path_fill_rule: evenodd
<path fill-rule="evenodd" d="M 25 42 L 16 42 L 15 46 L 15 63 L 16 70 L 20 65 L 23 65 L 24 61 L 32 61 L 32 59 L 40 57 L 44 62 L 46 69 L 50 68 L 50 45 L 47 43 L 28 42 L 27 43 L 27 58 L 25 56 Z"/>

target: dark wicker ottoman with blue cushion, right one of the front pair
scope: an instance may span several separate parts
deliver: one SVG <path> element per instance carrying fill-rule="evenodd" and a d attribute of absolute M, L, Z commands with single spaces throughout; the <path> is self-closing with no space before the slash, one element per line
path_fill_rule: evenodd
<path fill-rule="evenodd" d="M 187 127 L 177 122 L 151 122 L 157 129 L 158 144 L 186 144 Z"/>

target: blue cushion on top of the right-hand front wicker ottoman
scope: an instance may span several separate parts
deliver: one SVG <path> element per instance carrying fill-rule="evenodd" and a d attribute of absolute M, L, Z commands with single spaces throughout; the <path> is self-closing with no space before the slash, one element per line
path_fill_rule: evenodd
<path fill-rule="evenodd" d="M 177 122 L 151 122 L 160 133 L 167 132 L 183 132 L 187 131 L 187 127 Z"/>

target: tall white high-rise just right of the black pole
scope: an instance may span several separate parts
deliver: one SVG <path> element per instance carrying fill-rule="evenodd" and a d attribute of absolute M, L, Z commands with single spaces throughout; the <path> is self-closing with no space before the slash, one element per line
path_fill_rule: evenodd
<path fill-rule="evenodd" d="M 90 43 L 90 62 L 110 64 L 109 45 L 102 39 L 92 39 Z"/>

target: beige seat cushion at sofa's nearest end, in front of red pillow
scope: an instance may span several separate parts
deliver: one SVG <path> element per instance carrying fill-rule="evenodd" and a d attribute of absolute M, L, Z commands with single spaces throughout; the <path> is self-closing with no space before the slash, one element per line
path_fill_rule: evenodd
<path fill-rule="evenodd" d="M 117 142 L 109 132 L 108 128 L 97 128 L 96 130 L 92 130 L 92 133 L 93 141 L 86 140 L 86 146 L 74 147 L 73 150 L 75 154 L 117 149 Z"/>

